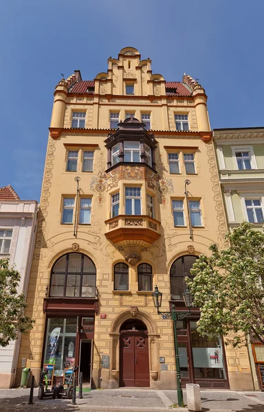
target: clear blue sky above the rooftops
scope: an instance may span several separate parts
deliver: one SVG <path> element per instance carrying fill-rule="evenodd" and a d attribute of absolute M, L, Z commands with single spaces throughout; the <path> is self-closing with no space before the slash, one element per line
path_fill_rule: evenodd
<path fill-rule="evenodd" d="M 212 128 L 264 126 L 263 0 L 2 0 L 0 187 L 39 201 L 54 87 L 122 47 L 206 89 Z"/>

